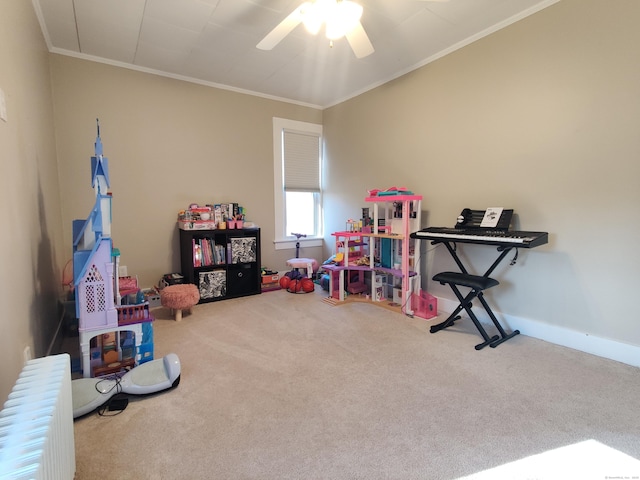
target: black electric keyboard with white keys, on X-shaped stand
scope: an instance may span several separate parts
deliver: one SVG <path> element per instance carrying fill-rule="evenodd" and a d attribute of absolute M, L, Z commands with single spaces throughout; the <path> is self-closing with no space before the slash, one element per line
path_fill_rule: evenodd
<path fill-rule="evenodd" d="M 491 230 L 481 228 L 427 227 L 414 232 L 411 238 L 460 243 L 479 243 L 499 247 L 534 248 L 549 242 L 547 232 Z"/>

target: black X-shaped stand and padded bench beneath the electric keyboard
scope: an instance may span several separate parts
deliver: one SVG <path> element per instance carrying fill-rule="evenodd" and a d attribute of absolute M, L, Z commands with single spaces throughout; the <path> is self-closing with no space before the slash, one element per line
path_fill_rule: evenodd
<path fill-rule="evenodd" d="M 471 318 L 471 321 L 473 322 L 473 324 L 476 326 L 476 328 L 480 332 L 480 335 L 482 335 L 482 338 L 484 339 L 484 342 L 479 343 L 478 345 L 475 346 L 476 350 L 481 350 L 487 345 L 489 345 L 492 348 L 495 348 L 498 345 L 500 345 L 502 342 L 505 342 L 510 338 L 518 335 L 520 333 L 519 330 L 514 330 L 510 334 L 507 334 L 505 332 L 504 328 L 502 327 L 502 325 L 500 325 L 500 322 L 491 311 L 489 304 L 487 303 L 487 301 L 484 299 L 484 296 L 483 296 L 484 290 L 499 285 L 499 282 L 491 278 L 490 275 L 491 273 L 493 273 L 493 271 L 500 264 L 500 262 L 504 260 L 504 258 L 508 255 L 508 253 L 514 247 L 511 247 L 511 246 L 498 247 L 498 251 L 500 252 L 500 255 L 498 255 L 498 258 L 491 264 L 491 266 L 487 269 L 487 271 L 484 272 L 484 274 L 482 275 L 471 275 L 465 268 L 464 264 L 460 261 L 460 258 L 456 253 L 455 242 L 433 240 L 431 243 L 432 244 L 443 243 L 445 247 L 447 247 L 447 250 L 449 251 L 451 256 L 453 257 L 453 260 L 458 265 L 458 268 L 460 268 L 460 272 L 442 272 L 442 273 L 436 274 L 433 277 L 434 281 L 440 282 L 442 285 L 448 284 L 449 287 L 451 287 L 451 289 L 453 290 L 453 293 L 455 294 L 455 296 L 458 298 L 458 301 L 460 302 L 460 304 L 456 307 L 453 313 L 449 315 L 449 317 L 444 322 L 441 322 L 437 325 L 433 325 L 430 329 L 430 332 L 436 333 L 436 332 L 439 332 L 440 330 L 444 330 L 445 328 L 450 327 L 451 325 L 454 324 L 456 320 L 459 320 L 461 318 L 459 315 L 460 312 L 462 310 L 465 310 L 467 312 L 467 315 L 469 315 L 469 318 Z M 462 293 L 460 292 L 459 287 L 470 288 L 470 291 L 466 296 L 463 296 Z M 493 322 L 495 327 L 498 329 L 498 332 L 500 333 L 499 336 L 494 335 L 492 337 L 489 337 L 484 326 L 480 323 L 476 315 L 473 313 L 473 310 L 471 309 L 471 306 L 472 306 L 471 302 L 476 298 L 480 301 L 483 308 L 487 312 L 487 315 L 489 315 L 489 318 L 491 318 L 491 321 Z"/>

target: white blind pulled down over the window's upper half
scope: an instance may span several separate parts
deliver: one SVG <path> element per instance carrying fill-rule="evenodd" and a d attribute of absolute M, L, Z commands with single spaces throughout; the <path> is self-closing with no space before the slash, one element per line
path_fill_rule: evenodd
<path fill-rule="evenodd" d="M 320 137 L 283 133 L 285 191 L 320 192 Z"/>

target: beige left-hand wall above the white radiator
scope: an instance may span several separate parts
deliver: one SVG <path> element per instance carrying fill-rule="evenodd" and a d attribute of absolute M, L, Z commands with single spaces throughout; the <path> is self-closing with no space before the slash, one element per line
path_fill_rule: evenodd
<path fill-rule="evenodd" d="M 0 7 L 0 405 L 28 347 L 43 356 L 59 323 L 62 221 L 49 54 L 31 2 Z"/>

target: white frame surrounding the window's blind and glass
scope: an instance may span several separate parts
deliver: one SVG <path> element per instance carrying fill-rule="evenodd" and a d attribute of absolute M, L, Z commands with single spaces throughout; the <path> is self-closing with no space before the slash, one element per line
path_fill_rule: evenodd
<path fill-rule="evenodd" d="M 300 243 L 306 247 L 321 247 L 323 244 L 323 210 L 322 192 L 324 177 L 324 141 L 322 137 L 322 125 L 317 123 L 301 122 L 286 118 L 273 117 L 273 193 L 274 193 L 274 219 L 276 250 L 295 248 L 296 237 L 288 235 L 285 231 L 285 190 L 283 170 L 283 133 L 294 132 L 306 135 L 317 135 L 320 141 L 320 192 L 318 193 L 318 218 L 317 235 L 300 239 Z"/>

